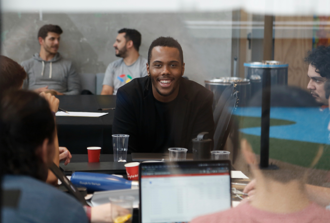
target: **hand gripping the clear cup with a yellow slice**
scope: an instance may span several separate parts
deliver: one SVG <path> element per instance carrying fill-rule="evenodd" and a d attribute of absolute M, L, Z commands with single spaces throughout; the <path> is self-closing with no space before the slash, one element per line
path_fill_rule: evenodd
<path fill-rule="evenodd" d="M 96 207 L 91 208 L 91 218 L 90 221 L 92 223 L 94 222 L 114 222 L 112 219 L 112 213 L 115 212 L 115 214 L 119 215 L 126 215 L 129 214 L 130 212 L 122 208 L 120 206 L 115 205 L 114 208 L 115 210 L 112 210 L 111 207 L 112 205 L 110 203 L 106 203 L 103 205 L 99 205 Z"/>

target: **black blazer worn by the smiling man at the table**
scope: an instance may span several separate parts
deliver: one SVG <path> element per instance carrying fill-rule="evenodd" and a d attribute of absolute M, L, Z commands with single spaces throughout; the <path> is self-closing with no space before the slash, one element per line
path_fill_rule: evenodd
<path fill-rule="evenodd" d="M 157 153 L 156 107 L 152 87 L 145 89 L 148 76 L 135 78 L 117 91 L 113 134 L 127 134 L 128 152 Z M 213 92 L 194 81 L 181 78 L 174 111 L 175 147 L 192 153 L 192 139 L 209 132 L 213 139 Z"/>

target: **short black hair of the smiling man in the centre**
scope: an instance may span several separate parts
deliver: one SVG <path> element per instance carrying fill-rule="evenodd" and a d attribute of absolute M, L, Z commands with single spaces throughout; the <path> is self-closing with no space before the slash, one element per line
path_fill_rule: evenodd
<path fill-rule="evenodd" d="M 173 37 L 158 37 L 152 41 L 152 43 L 149 47 L 149 51 L 148 51 L 148 64 L 149 65 L 150 65 L 152 49 L 156 46 L 167 46 L 167 47 L 177 48 L 180 53 L 181 64 L 183 64 L 183 52 L 182 52 L 182 48 L 181 48 L 181 45 L 178 42 L 178 40 L 174 39 Z"/>

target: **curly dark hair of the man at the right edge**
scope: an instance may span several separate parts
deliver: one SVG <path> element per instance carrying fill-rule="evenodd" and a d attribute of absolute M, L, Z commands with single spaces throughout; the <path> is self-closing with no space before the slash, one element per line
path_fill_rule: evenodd
<path fill-rule="evenodd" d="M 319 73 L 321 77 L 330 78 L 330 46 L 318 46 L 309 51 L 304 61 L 314 66 L 315 72 Z"/>

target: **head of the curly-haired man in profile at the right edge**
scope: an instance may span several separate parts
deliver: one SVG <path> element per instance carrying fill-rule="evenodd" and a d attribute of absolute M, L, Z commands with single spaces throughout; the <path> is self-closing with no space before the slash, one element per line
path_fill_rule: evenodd
<path fill-rule="evenodd" d="M 310 51 L 304 61 L 309 63 L 307 75 L 311 79 L 307 88 L 317 102 L 328 105 L 324 83 L 330 79 L 330 46 L 319 46 Z"/>

